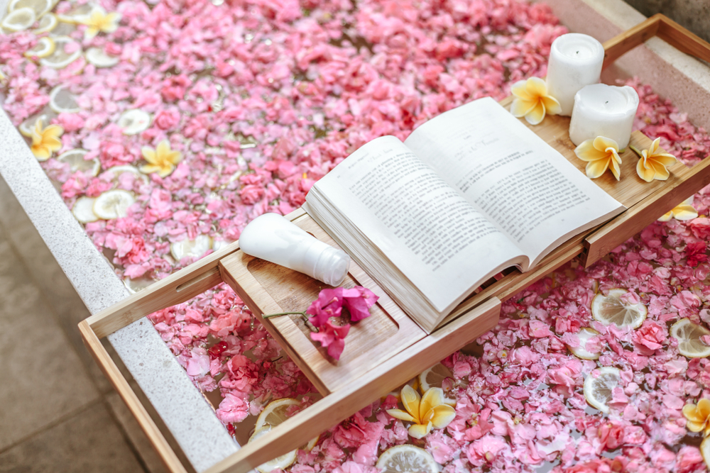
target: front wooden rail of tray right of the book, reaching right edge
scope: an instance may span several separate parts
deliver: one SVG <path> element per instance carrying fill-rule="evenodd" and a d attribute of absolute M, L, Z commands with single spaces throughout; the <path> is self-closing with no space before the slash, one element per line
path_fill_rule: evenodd
<path fill-rule="evenodd" d="M 584 267 L 589 267 L 608 252 L 640 232 L 656 218 L 670 211 L 682 201 L 710 184 L 710 159 L 706 158 L 692 168 L 679 170 L 674 182 L 668 183 L 648 199 L 629 208 L 626 212 L 596 230 L 586 238 Z"/>

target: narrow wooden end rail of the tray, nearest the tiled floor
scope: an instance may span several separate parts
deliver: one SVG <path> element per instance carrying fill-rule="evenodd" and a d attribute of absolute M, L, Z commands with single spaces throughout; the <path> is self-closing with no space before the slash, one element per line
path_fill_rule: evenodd
<path fill-rule="evenodd" d="M 158 429 L 158 425 L 155 425 L 148 411 L 143 407 L 138 396 L 136 396 L 136 393 L 133 392 L 126 378 L 121 374 L 119 367 L 116 366 L 114 360 L 111 360 L 109 353 L 104 348 L 104 345 L 101 344 L 101 341 L 89 326 L 87 320 L 79 323 L 79 331 L 82 334 L 82 339 L 84 340 L 84 345 L 86 345 L 87 350 L 89 350 L 89 353 L 91 353 L 97 365 L 101 367 L 102 372 L 104 372 L 104 375 L 114 386 L 116 392 L 119 393 L 121 399 L 124 400 L 129 411 L 131 411 L 133 417 L 138 421 L 138 425 L 141 425 L 141 429 L 146 433 L 146 437 L 148 437 L 155 451 L 158 452 L 160 460 L 163 460 L 163 464 L 165 464 L 168 471 L 171 473 L 187 473 L 180 459 L 178 459 L 178 456 L 175 455 L 175 452 L 173 452 L 173 449 L 170 447 L 168 440 L 165 440 L 163 433 Z"/>

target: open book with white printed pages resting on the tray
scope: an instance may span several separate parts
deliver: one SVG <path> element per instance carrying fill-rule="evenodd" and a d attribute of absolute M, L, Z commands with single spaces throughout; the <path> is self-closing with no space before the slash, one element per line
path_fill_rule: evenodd
<path fill-rule="evenodd" d="M 502 269 L 624 210 L 491 98 L 372 140 L 304 208 L 427 332 Z"/>

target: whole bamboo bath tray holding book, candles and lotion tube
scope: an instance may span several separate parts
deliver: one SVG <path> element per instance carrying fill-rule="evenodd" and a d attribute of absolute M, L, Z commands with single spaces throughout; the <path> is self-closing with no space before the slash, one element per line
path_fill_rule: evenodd
<path fill-rule="evenodd" d="M 604 43 L 608 56 L 605 65 L 652 35 L 661 36 L 684 52 L 710 60 L 710 45 L 664 16 L 657 15 Z M 507 106 L 510 99 L 501 104 Z M 532 130 L 583 170 L 584 162 L 577 160 L 572 153 L 574 145 L 567 135 L 568 126 L 569 118 L 553 116 L 545 118 L 543 124 Z M 650 140 L 634 133 L 631 143 L 647 148 Z M 622 160 L 621 182 L 616 182 L 609 173 L 594 182 L 625 204 L 628 207 L 626 212 L 588 235 L 570 239 L 532 271 L 521 274 L 509 270 L 502 279 L 486 282 L 431 334 L 410 321 L 356 265 L 351 266 L 344 284 L 367 286 L 381 296 L 381 300 L 374 308 L 373 316 L 351 328 L 346 350 L 339 362 L 330 360 L 307 338 L 305 328 L 297 319 L 284 316 L 263 321 L 324 397 L 273 428 L 268 435 L 244 445 L 239 452 L 214 464 L 207 469 L 207 473 L 247 472 L 299 447 L 303 439 L 314 438 L 493 328 L 498 322 L 501 301 L 577 255 L 583 255 L 586 266 L 591 265 L 710 183 L 710 170 L 707 169 L 710 160 L 704 160 L 692 169 L 677 164 L 672 167 L 671 177 L 666 182 L 651 184 L 643 183 L 636 176 L 638 158 L 635 155 L 630 151 L 623 153 Z M 295 211 L 288 218 L 317 238 L 334 245 L 303 211 Z M 303 310 L 315 299 L 322 285 L 302 274 L 244 255 L 238 243 L 233 243 L 79 324 L 89 352 L 124 399 L 170 472 L 186 470 L 99 339 L 161 308 L 192 299 L 223 281 L 234 287 L 260 318 L 263 313 L 293 308 Z"/>

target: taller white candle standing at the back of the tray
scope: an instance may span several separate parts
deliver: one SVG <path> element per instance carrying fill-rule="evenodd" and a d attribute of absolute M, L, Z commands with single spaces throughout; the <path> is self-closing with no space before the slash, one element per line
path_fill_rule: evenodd
<path fill-rule="evenodd" d="M 599 82 L 604 48 L 596 39 L 581 33 L 567 33 L 552 42 L 547 62 L 547 93 L 562 108 L 560 115 L 569 116 L 574 94 L 589 84 Z"/>

